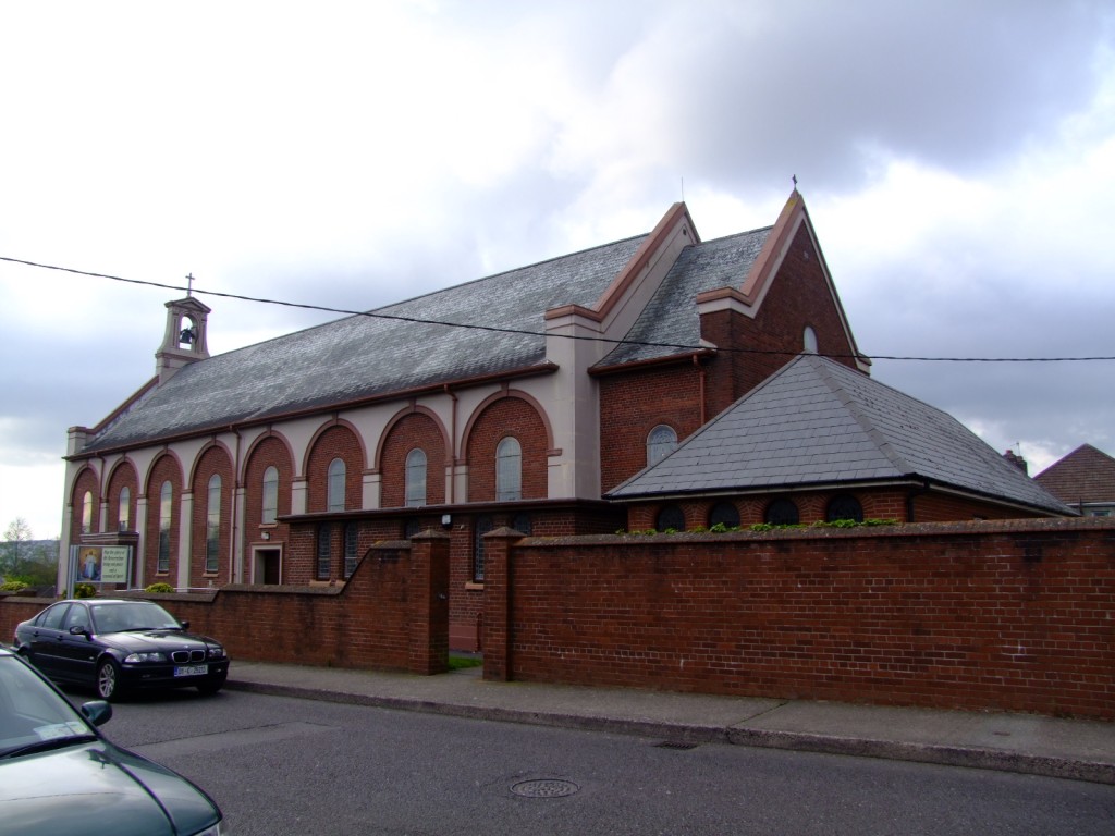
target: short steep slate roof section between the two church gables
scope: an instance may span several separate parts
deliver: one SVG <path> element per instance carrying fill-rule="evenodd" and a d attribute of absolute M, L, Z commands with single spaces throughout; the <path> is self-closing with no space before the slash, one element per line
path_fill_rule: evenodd
<path fill-rule="evenodd" d="M 662 343 L 691 350 L 700 341 L 700 317 L 694 303 L 697 294 L 719 288 L 739 288 L 772 229 L 686 247 L 624 338 L 630 342 L 617 346 L 598 366 L 618 366 L 686 352 L 683 348 L 663 348 Z"/>

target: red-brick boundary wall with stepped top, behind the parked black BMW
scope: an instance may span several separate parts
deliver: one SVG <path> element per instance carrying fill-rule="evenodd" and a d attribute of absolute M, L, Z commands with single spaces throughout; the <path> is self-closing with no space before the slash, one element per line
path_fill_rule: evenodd
<path fill-rule="evenodd" d="M 236 660 L 432 674 L 448 670 L 449 538 L 379 543 L 343 586 L 226 586 L 204 594 L 120 593 L 158 601 Z M 118 594 L 118 593 L 109 593 Z M 52 600 L 0 599 L 0 641 Z"/>

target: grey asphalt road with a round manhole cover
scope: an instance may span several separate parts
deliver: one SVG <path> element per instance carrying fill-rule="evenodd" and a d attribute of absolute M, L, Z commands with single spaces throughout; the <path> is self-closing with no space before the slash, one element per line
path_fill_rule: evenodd
<path fill-rule="evenodd" d="M 105 732 L 233 836 L 1115 833 L 1115 786 L 241 691 L 119 703 Z"/>

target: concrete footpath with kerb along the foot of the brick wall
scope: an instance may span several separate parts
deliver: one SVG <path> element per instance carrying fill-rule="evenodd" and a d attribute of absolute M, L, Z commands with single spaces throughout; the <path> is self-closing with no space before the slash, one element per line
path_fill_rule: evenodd
<path fill-rule="evenodd" d="M 1115 784 L 1115 722 L 233 661 L 229 689 L 501 722 Z"/>

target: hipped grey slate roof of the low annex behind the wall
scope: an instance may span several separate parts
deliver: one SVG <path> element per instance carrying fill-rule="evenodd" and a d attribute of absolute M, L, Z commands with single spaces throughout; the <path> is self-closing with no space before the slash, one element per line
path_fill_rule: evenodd
<path fill-rule="evenodd" d="M 895 478 L 1073 513 L 951 416 L 814 354 L 792 360 L 608 496 Z"/>

